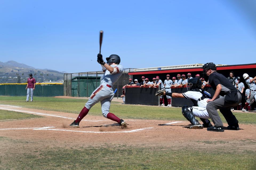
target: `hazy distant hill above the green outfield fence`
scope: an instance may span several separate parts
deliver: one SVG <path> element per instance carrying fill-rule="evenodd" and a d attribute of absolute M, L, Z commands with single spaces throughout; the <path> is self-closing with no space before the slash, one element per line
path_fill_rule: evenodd
<path fill-rule="evenodd" d="M 25 83 L 30 73 L 33 74 L 37 82 L 62 81 L 63 72 L 51 69 L 36 69 L 16 61 L 0 61 L 0 83 L 17 83 L 18 81 Z"/>

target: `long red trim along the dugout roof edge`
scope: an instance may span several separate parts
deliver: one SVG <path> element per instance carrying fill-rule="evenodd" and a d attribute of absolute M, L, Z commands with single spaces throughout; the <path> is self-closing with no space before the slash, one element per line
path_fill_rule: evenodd
<path fill-rule="evenodd" d="M 217 70 L 231 70 L 231 69 L 254 69 L 256 64 L 252 65 L 239 65 L 239 66 L 220 66 Z M 130 72 L 128 75 L 138 75 L 138 74 L 160 74 L 160 73 L 177 73 L 186 71 L 203 71 L 201 68 L 188 68 L 188 69 L 173 69 L 173 70 L 157 70 L 157 71 L 140 71 L 140 72 Z"/>

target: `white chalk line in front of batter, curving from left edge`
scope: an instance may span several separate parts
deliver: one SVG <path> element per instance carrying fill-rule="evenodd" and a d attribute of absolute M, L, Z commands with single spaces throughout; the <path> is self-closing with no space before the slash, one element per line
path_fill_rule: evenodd
<path fill-rule="evenodd" d="M 110 131 L 110 132 L 106 132 L 106 131 L 105 132 L 94 132 L 94 131 L 64 130 L 64 129 L 49 129 L 49 128 L 55 128 L 55 127 L 49 126 L 49 127 L 42 127 L 42 128 L 8 128 L 8 129 L 0 129 L 0 130 L 33 129 L 33 130 L 55 130 L 55 131 L 82 132 L 82 133 L 131 133 L 131 132 L 137 132 L 137 131 L 142 131 L 142 130 L 146 130 L 146 129 L 152 129 L 153 127 L 127 130 L 127 131 Z"/>

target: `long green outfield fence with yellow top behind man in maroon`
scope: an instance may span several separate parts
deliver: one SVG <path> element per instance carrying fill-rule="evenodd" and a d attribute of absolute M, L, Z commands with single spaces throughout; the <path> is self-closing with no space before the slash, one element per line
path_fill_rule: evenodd
<path fill-rule="evenodd" d="M 27 83 L 0 84 L 1 96 L 26 96 Z M 63 83 L 36 83 L 34 96 L 63 96 Z"/>

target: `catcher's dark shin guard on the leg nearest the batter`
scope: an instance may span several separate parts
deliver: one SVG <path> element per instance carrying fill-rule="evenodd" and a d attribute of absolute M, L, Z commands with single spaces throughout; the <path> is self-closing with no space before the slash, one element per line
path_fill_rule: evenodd
<path fill-rule="evenodd" d="M 198 122 L 193 112 L 188 109 L 187 105 L 182 107 L 182 114 L 192 124 L 190 129 L 203 129 L 203 125 Z"/>

